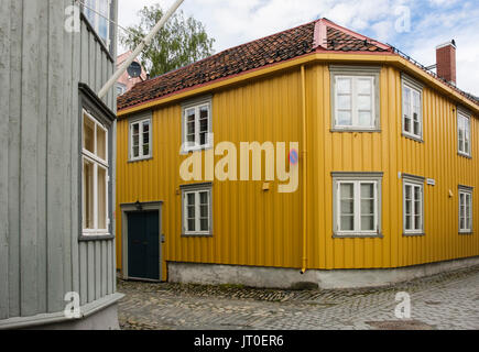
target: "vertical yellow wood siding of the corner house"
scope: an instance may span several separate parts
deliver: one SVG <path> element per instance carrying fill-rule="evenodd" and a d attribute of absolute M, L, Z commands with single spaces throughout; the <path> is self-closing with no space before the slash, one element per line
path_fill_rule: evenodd
<path fill-rule="evenodd" d="M 398 267 L 479 255 L 477 117 L 471 119 L 472 158 L 458 156 L 456 105 L 425 87 L 424 143 L 404 138 L 401 73 L 384 66 L 380 75 L 381 132 L 330 132 L 329 87 L 327 65 L 306 67 L 307 268 Z M 164 261 L 300 268 L 301 182 L 296 193 L 279 194 L 277 182 L 263 191 L 262 182 L 215 180 L 213 238 L 181 237 L 178 189 L 186 184 L 179 177 L 186 157 L 179 155 L 181 117 L 179 103 L 156 108 L 153 160 L 137 163 L 128 163 L 128 119 L 118 121 L 118 267 L 122 246 L 119 205 L 162 200 Z M 281 141 L 286 147 L 289 142 L 301 142 L 301 117 L 300 67 L 213 92 L 215 143 L 232 142 L 238 152 L 240 142 Z M 384 173 L 382 239 L 333 239 L 331 172 Z M 436 180 L 436 186 L 424 186 L 424 237 L 403 237 L 399 173 Z M 459 184 L 476 188 L 475 231 L 470 235 L 458 234 Z"/>

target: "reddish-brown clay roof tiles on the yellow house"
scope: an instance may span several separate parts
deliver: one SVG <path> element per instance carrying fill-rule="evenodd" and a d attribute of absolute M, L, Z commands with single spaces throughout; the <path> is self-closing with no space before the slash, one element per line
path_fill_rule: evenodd
<path fill-rule="evenodd" d="M 118 98 L 118 110 L 157 99 L 185 88 L 312 53 L 315 51 L 315 24 L 316 21 L 242 44 L 137 84 L 130 91 Z M 333 51 L 384 51 L 372 43 L 364 43 L 363 40 L 333 28 L 328 28 L 327 40 L 328 50 Z"/>

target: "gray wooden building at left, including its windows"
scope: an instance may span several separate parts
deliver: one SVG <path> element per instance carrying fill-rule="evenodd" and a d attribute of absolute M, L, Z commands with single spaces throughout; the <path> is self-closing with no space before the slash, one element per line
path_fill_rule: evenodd
<path fill-rule="evenodd" d="M 118 18 L 118 0 L 84 2 Z M 96 95 L 116 26 L 74 0 L 0 9 L 0 329 L 118 328 L 116 90 Z"/>

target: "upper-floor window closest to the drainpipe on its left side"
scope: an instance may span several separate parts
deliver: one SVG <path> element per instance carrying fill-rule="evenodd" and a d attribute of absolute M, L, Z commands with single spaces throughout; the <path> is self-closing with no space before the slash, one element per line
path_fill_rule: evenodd
<path fill-rule="evenodd" d="M 211 147 L 211 99 L 202 99 L 183 105 L 183 152 Z"/>

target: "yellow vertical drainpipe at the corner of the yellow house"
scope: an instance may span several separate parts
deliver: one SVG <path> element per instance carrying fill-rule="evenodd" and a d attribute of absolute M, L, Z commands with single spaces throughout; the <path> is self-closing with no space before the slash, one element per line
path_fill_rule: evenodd
<path fill-rule="evenodd" d="M 302 89 L 302 125 L 303 125 L 303 145 L 302 145 L 302 154 L 303 154 L 303 265 L 301 270 L 301 274 L 306 272 L 307 265 L 307 243 L 306 243 L 306 223 L 307 223 L 307 151 L 306 151 L 306 78 L 305 78 L 305 69 L 304 65 L 301 66 L 301 89 Z"/>

